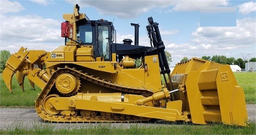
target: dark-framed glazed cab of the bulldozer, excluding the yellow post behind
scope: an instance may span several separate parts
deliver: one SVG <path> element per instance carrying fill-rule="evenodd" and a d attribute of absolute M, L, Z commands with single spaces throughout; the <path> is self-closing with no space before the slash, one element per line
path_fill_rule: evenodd
<path fill-rule="evenodd" d="M 89 20 L 79 24 L 77 39 L 81 45 L 93 45 L 94 56 L 111 61 L 110 44 L 112 42 L 112 23 L 107 20 Z"/>

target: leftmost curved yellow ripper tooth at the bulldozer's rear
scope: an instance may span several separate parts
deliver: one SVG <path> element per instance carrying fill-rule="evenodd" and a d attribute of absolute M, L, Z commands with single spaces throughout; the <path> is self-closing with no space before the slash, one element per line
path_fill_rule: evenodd
<path fill-rule="evenodd" d="M 14 71 L 11 70 L 10 68 L 8 67 L 5 67 L 5 69 L 3 70 L 3 80 L 6 84 L 6 86 L 8 87 L 8 89 L 10 90 L 11 93 L 13 93 L 13 90 L 12 90 L 12 80 L 13 80 L 13 75 L 14 75 Z"/>

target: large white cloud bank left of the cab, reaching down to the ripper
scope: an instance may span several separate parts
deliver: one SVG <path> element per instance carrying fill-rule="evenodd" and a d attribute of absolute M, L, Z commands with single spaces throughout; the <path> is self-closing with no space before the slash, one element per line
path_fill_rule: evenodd
<path fill-rule="evenodd" d="M 16 52 L 23 46 L 30 50 L 50 51 L 64 44 L 64 38 L 60 37 L 60 22 L 57 20 L 37 15 L 0 15 L 0 20 L 0 50 Z"/>

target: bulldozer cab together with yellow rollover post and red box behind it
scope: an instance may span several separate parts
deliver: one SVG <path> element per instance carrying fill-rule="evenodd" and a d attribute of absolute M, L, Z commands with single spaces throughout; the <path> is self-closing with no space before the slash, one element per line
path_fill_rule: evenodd
<path fill-rule="evenodd" d="M 75 5 L 73 14 L 63 14 L 66 21 L 61 23 L 61 37 L 65 37 L 65 45 L 90 46 L 93 54 L 88 55 L 111 61 L 109 50 L 114 41 L 113 23 L 103 19 L 90 20 L 84 13 L 79 13 L 79 9 Z"/>

